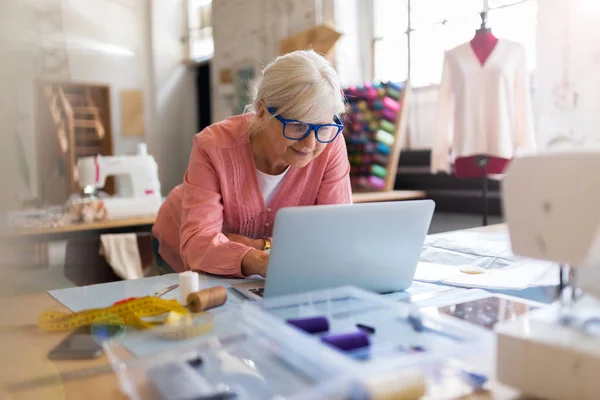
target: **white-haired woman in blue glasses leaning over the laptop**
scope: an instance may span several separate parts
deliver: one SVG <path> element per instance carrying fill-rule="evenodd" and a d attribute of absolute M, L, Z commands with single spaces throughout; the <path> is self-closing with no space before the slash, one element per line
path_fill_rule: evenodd
<path fill-rule="evenodd" d="M 163 267 L 266 276 L 277 210 L 352 202 L 344 99 L 327 60 L 314 51 L 278 57 L 250 109 L 194 137 L 183 184 L 153 227 Z"/>

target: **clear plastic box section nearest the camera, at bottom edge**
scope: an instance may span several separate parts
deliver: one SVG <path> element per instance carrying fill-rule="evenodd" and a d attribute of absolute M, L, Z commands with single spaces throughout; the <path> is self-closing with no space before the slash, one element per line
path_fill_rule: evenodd
<path fill-rule="evenodd" d="M 201 317 L 195 323 L 206 332 L 183 340 L 167 329 L 128 333 L 125 345 L 105 343 L 105 352 L 121 391 L 135 400 L 348 399 L 357 393 L 343 359 L 318 354 L 310 340 L 261 315 L 242 306 Z M 160 350 L 135 357 L 127 347 L 140 341 Z"/>

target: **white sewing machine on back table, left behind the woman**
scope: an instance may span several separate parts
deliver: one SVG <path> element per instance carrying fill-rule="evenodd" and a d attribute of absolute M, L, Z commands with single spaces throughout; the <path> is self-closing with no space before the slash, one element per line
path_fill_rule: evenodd
<path fill-rule="evenodd" d="M 144 143 L 135 155 L 82 157 L 77 161 L 77 174 L 86 193 L 103 188 L 108 176 L 118 177 L 116 194 L 102 199 L 109 218 L 149 216 L 160 208 L 158 166 Z"/>

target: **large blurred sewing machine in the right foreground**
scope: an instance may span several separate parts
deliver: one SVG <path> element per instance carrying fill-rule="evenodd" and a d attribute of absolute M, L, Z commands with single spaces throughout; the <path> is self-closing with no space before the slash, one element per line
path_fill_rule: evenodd
<path fill-rule="evenodd" d="M 517 158 L 503 181 L 513 252 L 557 263 L 557 300 L 499 324 L 499 381 L 543 399 L 600 398 L 600 151 Z M 586 176 L 588 175 L 588 176 Z"/>

